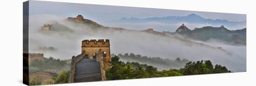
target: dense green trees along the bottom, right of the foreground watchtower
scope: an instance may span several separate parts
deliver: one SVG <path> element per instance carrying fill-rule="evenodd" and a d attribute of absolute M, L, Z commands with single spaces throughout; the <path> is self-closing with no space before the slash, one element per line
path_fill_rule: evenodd
<path fill-rule="evenodd" d="M 125 56 L 128 56 L 128 53 L 125 54 Z M 131 53 L 130 56 L 133 56 L 133 57 L 129 57 L 129 58 L 136 58 L 133 53 Z M 140 55 L 136 55 L 136 56 L 140 57 Z M 148 58 L 148 57 L 141 57 L 141 58 Z M 160 58 L 150 58 L 150 59 L 160 60 Z M 216 65 L 215 68 L 213 68 L 212 62 L 210 60 L 205 60 L 205 61 L 201 60 L 196 62 L 189 61 L 188 63 L 186 63 L 184 68 L 170 69 L 170 70 L 163 70 L 163 71 L 157 71 L 157 68 L 154 66 L 139 64 L 138 62 L 124 63 L 120 61 L 120 58 L 118 56 L 112 57 L 111 60 L 112 60 L 111 62 L 112 68 L 106 71 L 107 80 L 139 79 L 139 78 L 230 72 L 225 66 L 221 66 L 221 65 Z M 182 61 L 182 60 L 177 58 L 177 61 Z"/>

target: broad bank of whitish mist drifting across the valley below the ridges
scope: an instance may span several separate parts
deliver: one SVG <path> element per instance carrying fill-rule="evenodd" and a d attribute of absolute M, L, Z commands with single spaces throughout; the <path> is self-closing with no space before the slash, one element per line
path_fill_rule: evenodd
<path fill-rule="evenodd" d="M 62 16 L 49 14 L 30 16 L 29 51 L 31 53 L 44 53 L 45 57 L 52 56 L 61 60 L 68 60 L 72 56 L 81 54 L 82 40 L 109 39 L 111 53 L 116 55 L 134 53 L 135 55 L 160 57 L 168 60 L 176 60 L 177 58 L 189 61 L 211 60 L 213 64 L 227 66 L 233 72 L 246 71 L 246 40 L 243 44 L 243 37 L 237 38 L 239 41 L 242 39 L 242 42 L 240 41 L 242 44 L 240 42 L 230 44 L 227 42 L 228 40 L 217 39 L 216 37 L 209 37 L 207 40 L 196 40 L 187 37 L 187 34 L 183 35 L 175 33 L 175 31 L 169 33 L 163 32 L 165 30 L 159 31 L 161 27 L 148 27 L 153 28 L 151 32 L 148 28 L 127 29 L 119 27 L 121 26 L 118 25 L 119 23 L 116 23 L 115 27 L 107 27 L 86 18 L 85 21 L 74 22 Z M 180 22 L 179 26 L 182 26 L 182 23 L 184 22 Z M 44 24 L 52 25 L 51 29 L 42 30 Z M 185 22 L 185 24 L 187 23 Z M 176 26 L 175 29 L 179 26 Z M 159 28 L 159 30 L 155 31 L 155 28 Z M 236 33 L 230 33 L 230 35 L 233 36 Z M 231 39 L 232 36 L 229 38 Z M 185 65 L 185 62 L 178 64 L 178 66 L 161 66 L 135 59 L 121 60 L 150 64 L 160 70 L 179 68 Z"/>

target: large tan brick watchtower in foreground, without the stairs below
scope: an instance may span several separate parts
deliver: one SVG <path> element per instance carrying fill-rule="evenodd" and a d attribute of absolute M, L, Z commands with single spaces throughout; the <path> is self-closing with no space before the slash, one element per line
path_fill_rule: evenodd
<path fill-rule="evenodd" d="M 81 47 L 81 52 L 86 52 L 88 54 L 88 59 L 94 59 L 99 52 L 102 53 L 105 69 L 111 68 L 109 40 L 83 40 Z"/>

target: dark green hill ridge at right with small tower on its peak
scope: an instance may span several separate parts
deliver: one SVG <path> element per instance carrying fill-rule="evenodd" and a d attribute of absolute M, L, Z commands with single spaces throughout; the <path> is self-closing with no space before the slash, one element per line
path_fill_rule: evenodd
<path fill-rule="evenodd" d="M 203 26 L 201 28 L 195 28 L 190 30 L 184 24 L 180 26 L 175 33 L 171 34 L 181 34 L 185 38 L 191 38 L 194 40 L 222 40 L 229 44 L 242 44 L 246 45 L 246 28 L 241 30 L 228 30 L 224 26 L 213 27 L 213 26 Z"/>

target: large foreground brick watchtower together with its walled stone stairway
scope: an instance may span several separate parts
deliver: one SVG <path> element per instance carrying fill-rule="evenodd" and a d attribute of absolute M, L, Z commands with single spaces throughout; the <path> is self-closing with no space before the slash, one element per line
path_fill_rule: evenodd
<path fill-rule="evenodd" d="M 83 40 L 81 54 L 72 57 L 69 83 L 106 80 L 111 68 L 109 40 Z"/>

